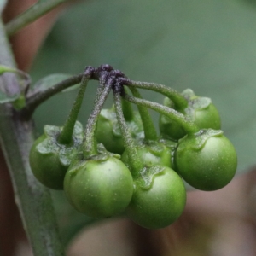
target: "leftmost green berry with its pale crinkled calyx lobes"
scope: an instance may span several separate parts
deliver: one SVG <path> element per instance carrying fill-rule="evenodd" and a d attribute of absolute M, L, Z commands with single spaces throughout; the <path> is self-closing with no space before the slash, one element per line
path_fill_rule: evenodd
<path fill-rule="evenodd" d="M 76 123 L 70 145 L 58 143 L 60 134 L 61 127 L 45 125 L 44 134 L 33 143 L 29 154 L 32 173 L 49 189 L 63 189 L 67 169 L 83 142 L 83 126 Z"/>

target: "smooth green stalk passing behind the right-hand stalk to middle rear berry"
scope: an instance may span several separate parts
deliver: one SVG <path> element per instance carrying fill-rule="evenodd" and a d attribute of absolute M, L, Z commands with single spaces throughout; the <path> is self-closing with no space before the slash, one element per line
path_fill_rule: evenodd
<path fill-rule="evenodd" d="M 142 99 L 141 94 L 135 87 L 131 87 L 130 90 L 131 90 L 133 96 L 136 96 L 137 98 Z M 144 130 L 145 140 L 146 141 L 147 140 L 156 141 L 157 140 L 157 132 L 154 128 L 154 123 L 153 123 L 151 115 L 148 111 L 148 108 L 146 108 L 142 105 L 138 105 L 137 108 L 139 110 L 141 119 L 143 121 L 143 130 Z"/>

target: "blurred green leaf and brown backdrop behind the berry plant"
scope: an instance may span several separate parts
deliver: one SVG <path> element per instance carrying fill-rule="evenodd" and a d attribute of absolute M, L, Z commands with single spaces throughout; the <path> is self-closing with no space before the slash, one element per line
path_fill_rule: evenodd
<path fill-rule="evenodd" d="M 33 2 L 9 1 L 4 19 Z M 11 40 L 20 68 L 31 74 L 33 83 L 50 73 L 77 74 L 85 66 L 108 63 L 130 79 L 180 92 L 190 88 L 212 98 L 238 154 L 236 178 L 219 191 L 189 191 L 183 216 L 162 230 L 145 230 L 125 218 L 96 223 L 53 191 L 67 255 L 256 255 L 256 1 L 70 1 Z M 92 82 L 79 115 L 84 125 L 95 93 Z M 149 100 L 163 100 L 156 93 L 142 93 Z M 53 96 L 38 108 L 33 116 L 38 135 L 46 124 L 63 125 L 75 94 Z M 106 108 L 111 104 L 109 99 Z M 158 115 L 152 115 L 157 125 Z M 4 188 L 0 195 L 9 198 L 10 207 L 2 216 L 8 218 L 8 209 L 15 206 L 11 190 Z M 9 235 L 8 242 L 15 244 L 12 254 L 3 255 L 31 253 L 19 223 L 13 230 L 20 235 Z M 4 229 L 2 224 L 2 234 Z"/>

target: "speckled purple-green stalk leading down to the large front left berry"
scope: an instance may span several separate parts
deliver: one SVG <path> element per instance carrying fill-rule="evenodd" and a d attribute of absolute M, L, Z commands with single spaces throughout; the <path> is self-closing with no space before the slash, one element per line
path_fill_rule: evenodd
<path fill-rule="evenodd" d="M 102 85 L 100 85 L 102 86 Z M 90 113 L 90 117 L 87 120 L 87 124 L 85 127 L 85 141 L 83 145 L 83 152 L 84 157 L 90 157 L 90 155 L 97 154 L 97 148 L 96 148 L 96 137 L 95 137 L 95 131 L 96 131 L 96 125 L 98 116 L 101 113 L 102 106 L 104 102 L 106 101 L 108 94 L 112 87 L 112 79 L 108 79 L 108 81 L 105 83 L 105 87 L 101 90 L 98 90 L 100 92 L 100 96 L 96 95 L 96 101 L 94 104 L 94 109 Z"/>

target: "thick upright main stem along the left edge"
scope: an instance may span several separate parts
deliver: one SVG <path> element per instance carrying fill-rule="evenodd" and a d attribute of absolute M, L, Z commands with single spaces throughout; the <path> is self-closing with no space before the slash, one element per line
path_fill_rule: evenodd
<path fill-rule="evenodd" d="M 6 38 L 0 21 L 0 63 L 15 67 Z M 0 84 L 9 90 L 19 88 L 18 79 L 12 73 L 1 76 Z M 32 121 L 24 121 L 8 103 L 0 105 L 0 143 L 33 255 L 64 255 L 49 189 L 38 183 L 29 165 L 28 155 L 33 143 Z"/>

